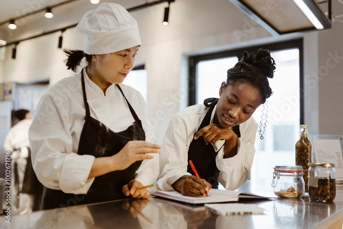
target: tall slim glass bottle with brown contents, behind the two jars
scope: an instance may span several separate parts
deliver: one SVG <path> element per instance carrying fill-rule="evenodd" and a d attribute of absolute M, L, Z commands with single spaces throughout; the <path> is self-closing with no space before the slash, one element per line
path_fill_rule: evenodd
<path fill-rule="evenodd" d="M 300 139 L 296 142 L 296 165 L 301 165 L 304 170 L 305 192 L 308 192 L 307 170 L 311 162 L 312 144 L 307 138 L 307 125 L 300 125 Z"/>

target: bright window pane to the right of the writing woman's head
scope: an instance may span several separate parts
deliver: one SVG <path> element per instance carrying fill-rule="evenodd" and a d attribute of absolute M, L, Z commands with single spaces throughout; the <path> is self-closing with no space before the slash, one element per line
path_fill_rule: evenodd
<path fill-rule="evenodd" d="M 263 140 L 257 132 L 252 179 L 272 178 L 275 165 L 295 165 L 294 147 L 300 124 L 299 50 L 271 51 L 271 55 L 276 62 L 274 77 L 269 80 L 273 94 L 267 99 Z M 252 115 L 259 125 L 265 120 L 262 110 L 266 106 L 259 106 Z"/>

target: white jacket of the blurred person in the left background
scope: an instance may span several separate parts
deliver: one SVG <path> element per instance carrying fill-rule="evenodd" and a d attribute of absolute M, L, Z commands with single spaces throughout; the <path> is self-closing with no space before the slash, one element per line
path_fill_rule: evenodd
<path fill-rule="evenodd" d="M 12 155 L 14 157 L 20 153 L 21 158 L 27 158 L 27 147 L 29 147 L 29 125 L 31 125 L 31 123 L 32 119 L 23 119 L 10 129 L 3 143 L 5 151 L 12 152 L 12 154 L 15 154 L 15 156 Z M 14 152 L 15 149 L 21 150 Z"/>

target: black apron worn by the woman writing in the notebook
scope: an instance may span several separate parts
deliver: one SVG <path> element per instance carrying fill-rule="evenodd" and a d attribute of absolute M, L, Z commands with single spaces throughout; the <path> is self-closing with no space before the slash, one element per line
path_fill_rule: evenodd
<path fill-rule="evenodd" d="M 215 104 L 217 104 L 217 101 L 218 99 L 216 98 L 209 98 L 204 100 L 204 106 L 209 107 L 210 109 L 202 120 L 202 123 L 200 124 L 197 132 L 199 132 L 199 130 L 204 128 L 206 125 L 210 125 L 211 114 L 213 108 L 215 107 Z M 239 125 L 235 125 L 233 127 L 233 132 L 237 134 L 237 137 L 241 136 L 241 133 L 239 132 Z M 200 178 L 205 179 L 207 182 L 209 182 L 212 185 L 212 189 L 218 188 L 219 169 L 215 164 L 215 157 L 217 156 L 218 152 L 215 152 L 212 144 L 206 145 L 203 137 L 193 139 L 188 149 L 188 160 L 192 160 L 194 166 L 196 167 L 196 170 L 199 173 Z M 193 169 L 191 169 L 191 165 L 189 164 L 187 167 L 187 172 L 194 175 Z"/>

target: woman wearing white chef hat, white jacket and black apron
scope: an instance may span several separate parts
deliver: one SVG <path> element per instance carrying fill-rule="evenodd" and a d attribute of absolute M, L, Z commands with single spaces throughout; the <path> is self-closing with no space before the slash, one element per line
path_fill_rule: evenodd
<path fill-rule="evenodd" d="M 49 88 L 38 104 L 29 141 L 32 164 L 45 185 L 43 208 L 146 198 L 158 176 L 141 94 L 121 84 L 141 46 L 137 21 L 115 3 L 86 12 L 76 27 L 84 51 L 64 50 L 67 67 L 81 73 Z M 137 141 L 134 141 L 137 140 Z"/>

